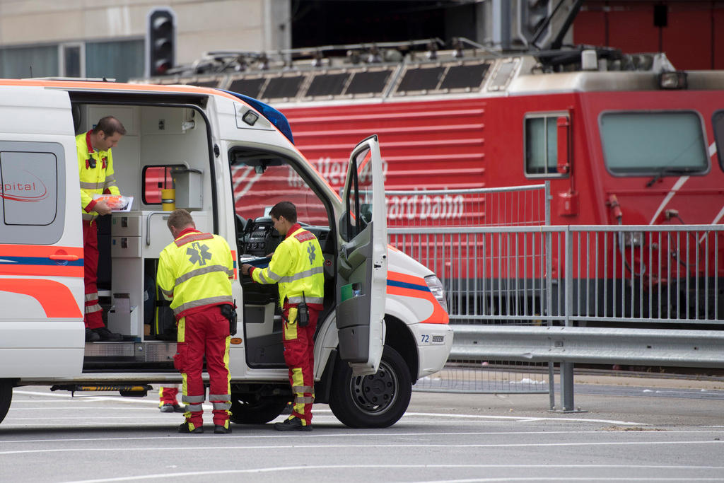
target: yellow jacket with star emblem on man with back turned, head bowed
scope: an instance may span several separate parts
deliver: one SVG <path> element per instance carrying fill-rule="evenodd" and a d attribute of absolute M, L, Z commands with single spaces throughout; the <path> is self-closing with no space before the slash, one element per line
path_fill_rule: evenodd
<path fill-rule="evenodd" d="M 234 261 L 224 238 L 188 229 L 159 256 L 156 284 L 176 319 L 209 306 L 232 305 Z"/>

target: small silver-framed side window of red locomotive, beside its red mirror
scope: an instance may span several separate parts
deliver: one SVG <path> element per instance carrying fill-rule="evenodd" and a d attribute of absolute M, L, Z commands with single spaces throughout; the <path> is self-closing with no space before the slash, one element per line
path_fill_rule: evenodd
<path fill-rule="evenodd" d="M 526 175 L 560 177 L 557 171 L 557 119 L 561 114 L 529 114 L 525 119 Z"/>

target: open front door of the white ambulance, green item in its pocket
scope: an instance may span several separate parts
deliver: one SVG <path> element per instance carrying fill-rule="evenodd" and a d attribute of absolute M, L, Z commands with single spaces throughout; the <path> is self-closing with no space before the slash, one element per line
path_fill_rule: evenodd
<path fill-rule="evenodd" d="M 387 217 L 379 141 L 352 151 L 338 220 L 337 332 L 340 358 L 354 374 L 374 374 L 384 349 Z"/>

